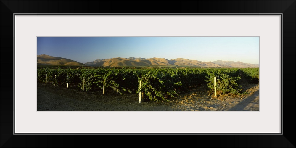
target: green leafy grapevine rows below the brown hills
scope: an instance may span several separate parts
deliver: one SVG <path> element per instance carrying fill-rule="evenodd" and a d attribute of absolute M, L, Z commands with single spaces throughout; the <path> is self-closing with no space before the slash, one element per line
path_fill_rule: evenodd
<path fill-rule="evenodd" d="M 141 92 L 145 100 L 168 101 L 190 88 L 207 84 L 214 91 L 217 78 L 218 94 L 244 94 L 238 81 L 242 72 L 252 83 L 259 83 L 259 68 L 184 68 L 184 69 L 37 69 L 37 82 L 48 85 L 78 87 L 86 92 L 110 89 L 119 94 Z M 140 88 L 141 81 L 141 88 Z"/>

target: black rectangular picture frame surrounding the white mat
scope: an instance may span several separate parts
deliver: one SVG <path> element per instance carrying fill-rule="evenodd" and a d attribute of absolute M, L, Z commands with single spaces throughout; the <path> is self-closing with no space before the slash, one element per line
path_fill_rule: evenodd
<path fill-rule="evenodd" d="M 2 1 L 1 147 L 295 147 L 296 1 Z M 134 6 L 137 7 L 134 7 Z M 282 134 L 14 134 L 14 14 L 282 14 Z M 292 74 L 292 78 L 291 78 Z M 288 80 L 289 79 L 289 80 Z M 7 97 L 8 96 L 8 97 Z M 256 124 L 256 123 L 254 123 Z M 292 125 L 292 126 L 291 126 Z M 97 140 L 91 140 L 97 139 Z M 112 140 L 109 143 L 107 141 Z M 139 140 L 138 140 L 139 139 Z M 157 142 L 159 141 L 159 142 Z M 158 144 L 157 144 L 158 143 Z M 160 143 L 160 144 L 159 144 Z"/>

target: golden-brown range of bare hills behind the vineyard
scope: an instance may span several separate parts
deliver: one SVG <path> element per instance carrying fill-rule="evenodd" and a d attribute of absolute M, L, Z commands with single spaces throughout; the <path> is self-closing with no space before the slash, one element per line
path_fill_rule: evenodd
<path fill-rule="evenodd" d="M 132 66 L 132 67 L 141 67 L 141 66 L 164 66 L 164 67 L 239 67 L 239 68 L 255 68 L 259 67 L 259 64 L 249 64 L 243 63 L 240 61 L 222 61 L 217 60 L 213 62 L 202 62 L 198 60 L 177 58 L 177 59 L 165 59 L 165 58 L 141 58 L 141 57 L 115 57 L 110 59 L 96 59 L 91 62 L 79 63 L 74 60 L 61 58 L 61 57 L 52 57 L 49 55 L 37 55 L 37 65 L 87 65 L 93 67 L 123 67 L 123 66 Z"/>

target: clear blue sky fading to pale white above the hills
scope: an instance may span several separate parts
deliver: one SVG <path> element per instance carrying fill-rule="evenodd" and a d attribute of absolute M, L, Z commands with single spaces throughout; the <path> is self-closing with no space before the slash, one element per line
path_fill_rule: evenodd
<path fill-rule="evenodd" d="M 37 37 L 37 55 L 86 63 L 113 57 L 259 64 L 259 37 Z"/>

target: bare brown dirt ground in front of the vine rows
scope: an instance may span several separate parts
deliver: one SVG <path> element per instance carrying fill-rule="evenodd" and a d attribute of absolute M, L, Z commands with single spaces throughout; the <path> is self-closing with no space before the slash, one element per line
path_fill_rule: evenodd
<path fill-rule="evenodd" d="M 37 111 L 259 111 L 259 84 L 245 83 L 245 95 L 220 94 L 217 98 L 206 84 L 170 101 L 139 103 L 139 94 L 117 94 L 108 90 L 82 92 L 77 86 L 37 83 Z"/>

